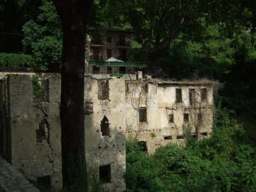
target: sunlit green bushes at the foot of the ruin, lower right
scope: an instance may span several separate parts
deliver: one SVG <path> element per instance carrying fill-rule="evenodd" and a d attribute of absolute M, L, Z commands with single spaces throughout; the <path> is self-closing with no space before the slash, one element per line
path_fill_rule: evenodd
<path fill-rule="evenodd" d="M 227 110 L 217 109 L 210 139 L 191 139 L 185 148 L 160 147 L 154 155 L 127 141 L 127 191 L 255 191 L 256 149 Z"/>

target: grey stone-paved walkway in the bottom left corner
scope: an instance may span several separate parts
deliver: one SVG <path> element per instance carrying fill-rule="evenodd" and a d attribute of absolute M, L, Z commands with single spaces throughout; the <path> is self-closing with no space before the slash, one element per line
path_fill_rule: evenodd
<path fill-rule="evenodd" d="M 40 192 L 16 168 L 0 156 L 0 192 Z"/>

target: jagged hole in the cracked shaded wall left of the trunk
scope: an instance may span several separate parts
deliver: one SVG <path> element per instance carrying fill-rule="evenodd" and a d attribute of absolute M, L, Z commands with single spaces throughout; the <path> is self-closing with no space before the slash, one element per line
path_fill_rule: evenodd
<path fill-rule="evenodd" d="M 38 130 L 36 130 L 36 141 L 42 143 L 43 141 L 50 142 L 49 138 L 49 122 L 46 119 L 43 119 L 39 123 Z"/>

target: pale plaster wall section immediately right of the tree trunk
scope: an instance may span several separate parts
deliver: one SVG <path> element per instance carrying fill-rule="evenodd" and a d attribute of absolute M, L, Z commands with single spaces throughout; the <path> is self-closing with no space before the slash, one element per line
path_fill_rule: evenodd
<path fill-rule="evenodd" d="M 98 86 L 108 81 L 109 98 L 100 100 Z M 86 158 L 88 166 L 95 170 L 98 177 L 99 165 L 111 164 L 111 183 L 106 183 L 110 191 L 125 189 L 125 94 L 123 79 L 93 79 L 86 77 L 84 87 L 85 102 L 93 102 L 93 114 L 85 115 Z M 100 92 L 101 93 L 101 92 Z M 102 136 L 101 121 L 108 118 L 110 136 Z M 115 190 L 114 190 L 115 189 Z"/>

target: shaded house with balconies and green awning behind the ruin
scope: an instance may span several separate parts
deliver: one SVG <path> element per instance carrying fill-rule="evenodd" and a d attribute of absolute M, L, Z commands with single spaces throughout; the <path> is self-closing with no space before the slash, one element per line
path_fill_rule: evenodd
<path fill-rule="evenodd" d="M 131 31 L 118 28 L 103 30 L 104 35 L 87 36 L 86 74 L 133 74 L 146 69 L 147 63 L 130 62 L 127 57 L 132 49 Z M 107 61 L 110 58 L 115 60 Z"/>

